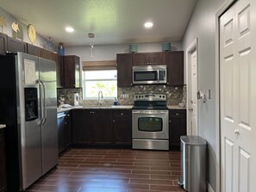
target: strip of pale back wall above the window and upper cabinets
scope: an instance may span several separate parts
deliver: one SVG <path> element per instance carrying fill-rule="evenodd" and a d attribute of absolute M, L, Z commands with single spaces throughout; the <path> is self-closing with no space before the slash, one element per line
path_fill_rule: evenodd
<path fill-rule="evenodd" d="M 172 51 L 182 50 L 181 41 L 171 42 Z M 161 52 L 161 42 L 138 44 L 138 53 Z M 127 45 L 95 45 L 94 57 L 90 57 L 90 46 L 69 46 L 65 47 L 66 55 L 77 55 L 80 61 L 116 60 L 116 53 L 128 53 Z"/>

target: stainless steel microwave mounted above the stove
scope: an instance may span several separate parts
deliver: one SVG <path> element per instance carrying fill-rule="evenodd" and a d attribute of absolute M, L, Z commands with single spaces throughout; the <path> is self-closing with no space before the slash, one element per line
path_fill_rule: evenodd
<path fill-rule="evenodd" d="M 133 84 L 166 84 L 166 65 L 133 66 Z"/>

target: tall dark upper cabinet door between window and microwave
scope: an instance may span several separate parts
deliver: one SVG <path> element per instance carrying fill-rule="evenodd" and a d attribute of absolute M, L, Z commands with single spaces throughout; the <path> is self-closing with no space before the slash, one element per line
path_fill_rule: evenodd
<path fill-rule="evenodd" d="M 129 87 L 133 83 L 132 58 L 132 53 L 116 55 L 118 87 Z"/>

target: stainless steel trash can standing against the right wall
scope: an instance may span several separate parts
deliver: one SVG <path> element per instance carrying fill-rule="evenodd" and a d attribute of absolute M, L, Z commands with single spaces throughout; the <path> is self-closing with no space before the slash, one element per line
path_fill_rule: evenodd
<path fill-rule="evenodd" d="M 179 184 L 189 192 L 206 192 L 206 140 L 199 136 L 181 136 L 180 147 Z"/>

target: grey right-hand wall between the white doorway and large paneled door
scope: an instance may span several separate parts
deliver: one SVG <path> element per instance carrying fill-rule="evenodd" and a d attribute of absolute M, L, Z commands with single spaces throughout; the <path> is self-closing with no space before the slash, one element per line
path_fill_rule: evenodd
<path fill-rule="evenodd" d="M 208 141 L 209 145 L 209 185 L 218 191 L 216 181 L 216 149 L 215 134 L 219 125 L 215 123 L 215 15 L 227 0 L 198 0 L 189 26 L 186 29 L 183 40 L 183 49 L 198 38 L 198 90 L 208 93 L 211 91 L 211 99 L 206 103 L 198 102 L 198 128 L 199 135 Z"/>

